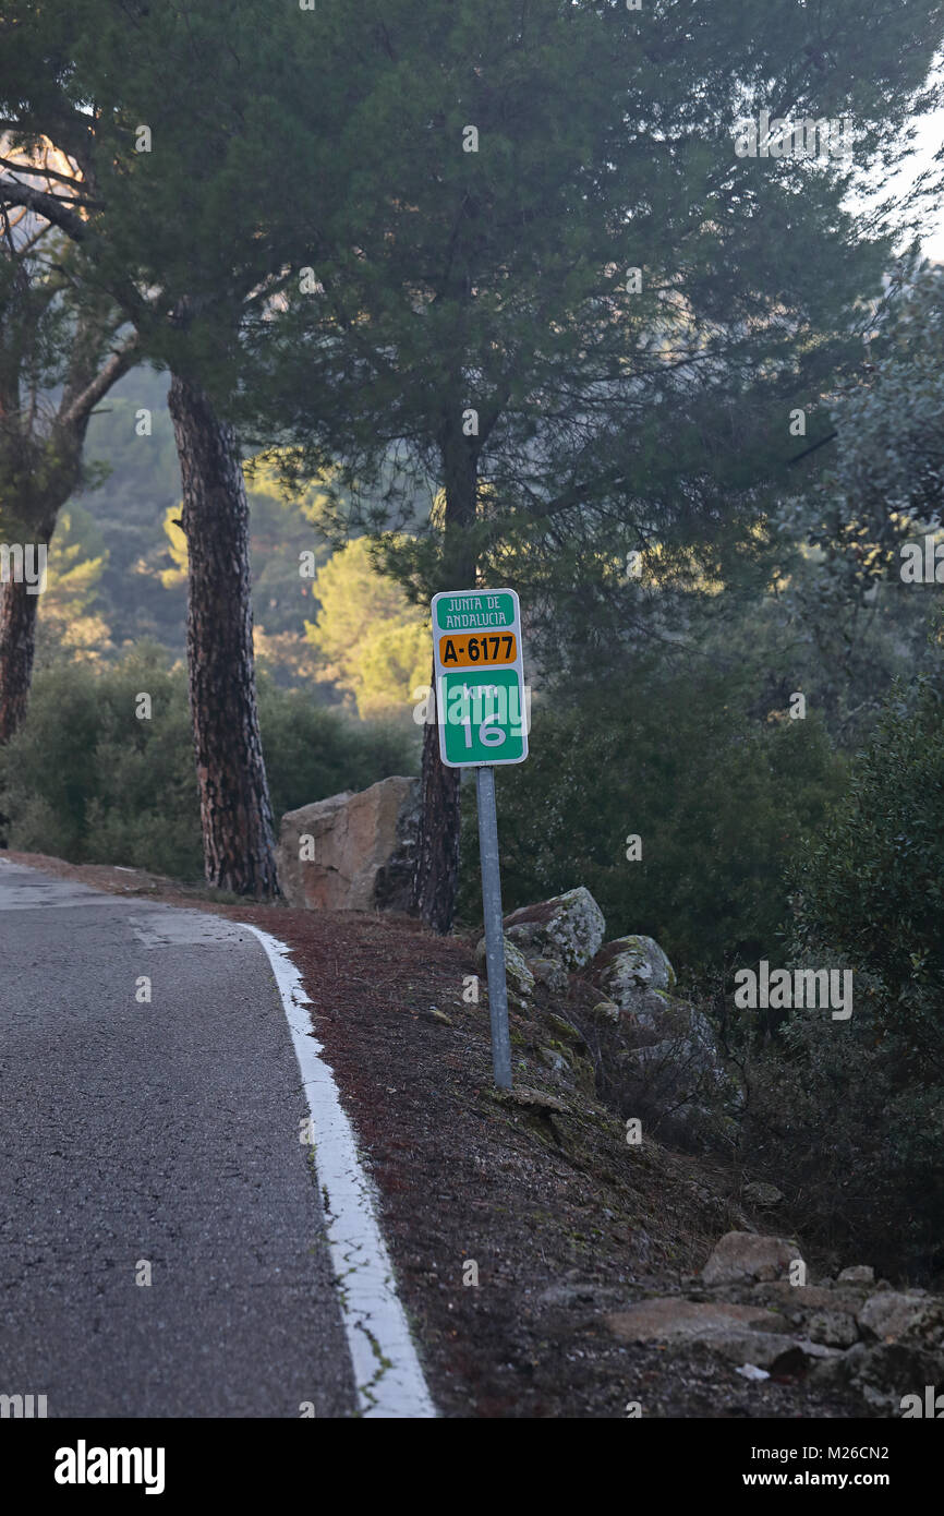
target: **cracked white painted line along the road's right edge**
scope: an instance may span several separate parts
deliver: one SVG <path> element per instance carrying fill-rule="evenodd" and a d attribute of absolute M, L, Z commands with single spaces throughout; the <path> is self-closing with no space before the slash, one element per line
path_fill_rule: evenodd
<path fill-rule="evenodd" d="M 324 1220 L 361 1410 L 374 1417 L 435 1416 L 394 1284 L 371 1182 L 361 1166 L 335 1076 L 321 1058 L 324 1049 L 314 1035 L 302 976 L 285 943 L 258 926 L 239 925 L 253 932 L 268 954 L 302 1069 L 318 1182 L 330 1207 Z"/>

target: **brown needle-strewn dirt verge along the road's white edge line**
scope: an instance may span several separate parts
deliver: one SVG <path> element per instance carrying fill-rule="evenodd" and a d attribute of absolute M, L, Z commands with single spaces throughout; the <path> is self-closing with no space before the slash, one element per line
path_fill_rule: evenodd
<path fill-rule="evenodd" d="M 512 1013 L 515 1090 L 495 1092 L 488 1008 L 464 999 L 474 940 L 435 937 L 408 917 L 226 904 L 141 870 L 5 857 L 220 911 L 286 943 L 445 1416 L 612 1419 L 629 1402 L 649 1417 L 862 1414 L 802 1377 L 752 1383 L 703 1349 L 611 1336 L 608 1311 L 694 1290 L 718 1237 L 750 1225 L 738 1199 L 746 1176 L 655 1142 L 630 1148 L 592 1087 L 553 1079 L 530 1014 Z M 565 1014 L 539 996 L 545 1013 Z"/>

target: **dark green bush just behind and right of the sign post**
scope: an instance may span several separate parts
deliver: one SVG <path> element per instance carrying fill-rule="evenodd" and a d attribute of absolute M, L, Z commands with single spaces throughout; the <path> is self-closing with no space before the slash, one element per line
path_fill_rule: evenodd
<path fill-rule="evenodd" d="M 632 687 L 535 703 L 530 756 L 497 784 L 506 910 L 585 884 L 611 937 L 645 932 L 677 969 L 774 961 L 786 858 L 844 764 L 815 713 L 761 725 L 746 703 L 717 675 L 645 669 Z M 465 802 L 461 910 L 477 920 L 471 785 Z"/>

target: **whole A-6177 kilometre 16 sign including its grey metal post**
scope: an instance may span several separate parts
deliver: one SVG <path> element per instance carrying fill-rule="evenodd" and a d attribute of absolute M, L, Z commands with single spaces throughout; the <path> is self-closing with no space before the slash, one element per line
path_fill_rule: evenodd
<path fill-rule="evenodd" d="M 476 769 L 491 1057 L 511 1090 L 495 766 L 527 758 L 521 608 L 514 590 L 458 590 L 433 596 L 432 619 L 439 756 Z"/>

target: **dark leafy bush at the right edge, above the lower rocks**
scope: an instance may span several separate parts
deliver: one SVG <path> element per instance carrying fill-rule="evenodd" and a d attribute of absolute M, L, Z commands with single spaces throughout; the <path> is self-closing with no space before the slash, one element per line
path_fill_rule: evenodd
<path fill-rule="evenodd" d="M 853 1014 L 794 1011 L 753 1070 L 747 1140 L 847 1260 L 944 1269 L 944 726 L 896 690 L 791 872 L 794 963 L 850 967 Z M 782 1181 L 780 1181 L 782 1182 Z"/>

